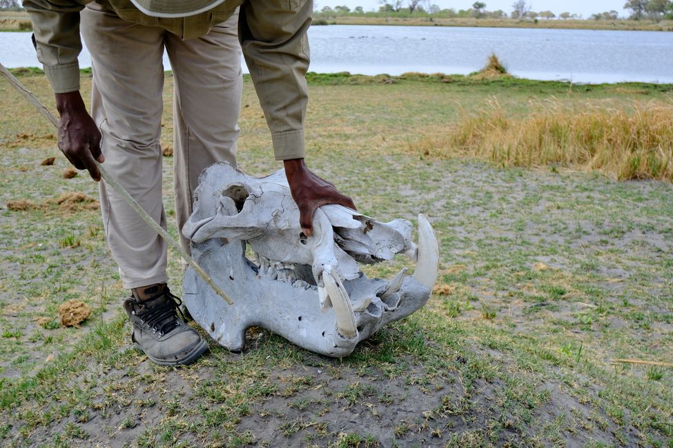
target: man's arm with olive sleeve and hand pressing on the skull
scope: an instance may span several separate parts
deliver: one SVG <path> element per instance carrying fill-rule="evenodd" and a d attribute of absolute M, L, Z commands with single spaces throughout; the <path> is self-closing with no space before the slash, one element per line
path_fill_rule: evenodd
<path fill-rule="evenodd" d="M 355 208 L 331 183 L 304 163 L 304 116 L 311 0 L 248 0 L 241 6 L 239 37 L 257 96 L 271 130 L 276 160 L 282 160 L 300 224 L 310 235 L 313 213 L 325 204 Z"/>

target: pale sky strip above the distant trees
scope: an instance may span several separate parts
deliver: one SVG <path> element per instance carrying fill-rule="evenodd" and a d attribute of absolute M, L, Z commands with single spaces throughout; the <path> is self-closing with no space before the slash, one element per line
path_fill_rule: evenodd
<path fill-rule="evenodd" d="M 365 11 L 378 10 L 380 4 L 377 0 L 313 0 L 317 6 L 315 9 L 320 10 L 323 6 L 338 6 L 345 5 L 353 9 L 355 6 L 362 6 Z M 431 3 L 438 5 L 440 8 L 453 8 L 455 10 L 466 10 L 471 8 L 475 0 L 431 0 Z M 511 12 L 511 4 L 514 0 L 482 0 L 486 3 L 486 9 L 489 11 L 503 10 L 509 14 Z M 391 0 L 392 3 L 392 0 Z M 425 1 L 422 1 L 425 3 Z M 561 12 L 567 11 L 572 14 L 582 14 L 583 17 L 590 17 L 594 12 L 604 12 L 615 10 L 620 16 L 627 15 L 627 12 L 622 9 L 626 0 L 533 0 L 532 10 L 552 11 L 558 16 Z M 402 4 L 406 5 L 407 0 L 402 0 Z"/>

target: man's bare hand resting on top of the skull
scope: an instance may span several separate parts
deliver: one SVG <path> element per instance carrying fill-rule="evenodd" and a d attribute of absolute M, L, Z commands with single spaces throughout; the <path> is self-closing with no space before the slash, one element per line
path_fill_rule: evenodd
<path fill-rule="evenodd" d="M 292 198 L 299 207 L 299 223 L 306 236 L 313 232 L 313 213 L 320 205 L 339 204 L 355 210 L 355 204 L 336 187 L 316 176 L 306 167 L 304 159 L 284 161 L 285 176 Z"/>

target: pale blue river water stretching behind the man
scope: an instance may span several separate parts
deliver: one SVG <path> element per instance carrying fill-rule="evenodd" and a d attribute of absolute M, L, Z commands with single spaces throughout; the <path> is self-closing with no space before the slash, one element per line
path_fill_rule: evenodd
<path fill-rule="evenodd" d="M 310 70 L 320 73 L 467 74 L 493 52 L 528 79 L 673 83 L 670 32 L 335 25 L 312 26 L 309 42 Z M 39 66 L 30 32 L 0 33 L 0 62 Z M 85 48 L 80 65 L 90 63 Z"/>

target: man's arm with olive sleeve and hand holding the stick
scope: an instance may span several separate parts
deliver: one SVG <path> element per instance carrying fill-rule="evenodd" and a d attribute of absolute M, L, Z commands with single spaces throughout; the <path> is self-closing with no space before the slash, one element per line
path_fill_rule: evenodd
<path fill-rule="evenodd" d="M 79 94 L 79 12 L 85 3 L 86 0 L 25 0 L 23 8 L 32 20 L 37 59 L 44 66 L 61 115 L 59 148 L 78 170 L 86 168 L 99 181 L 101 175 L 94 159 L 104 161 L 101 134 Z"/>

